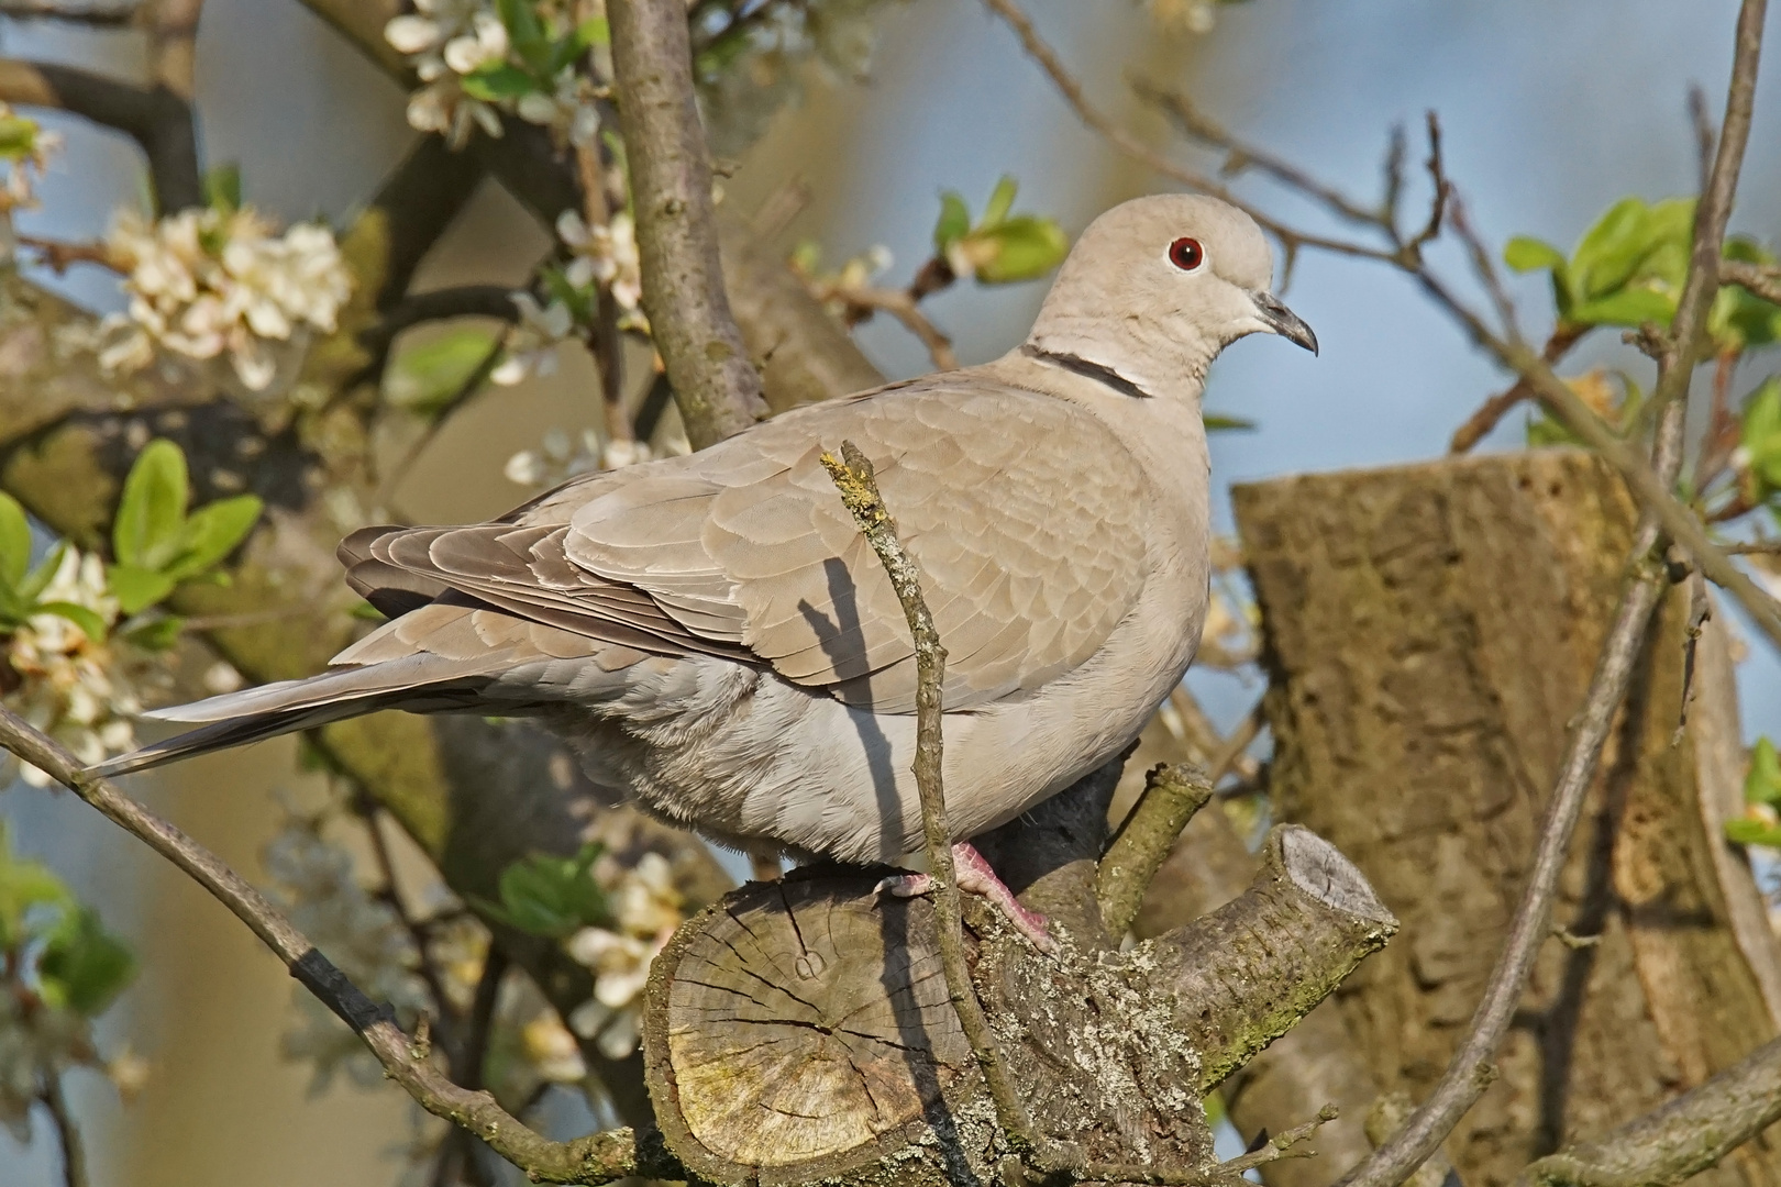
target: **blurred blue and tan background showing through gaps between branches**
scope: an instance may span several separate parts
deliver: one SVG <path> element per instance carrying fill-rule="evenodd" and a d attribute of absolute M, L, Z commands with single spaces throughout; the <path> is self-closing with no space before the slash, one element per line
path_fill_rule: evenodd
<path fill-rule="evenodd" d="M 1218 9 L 1204 34 L 1163 32 L 1134 0 L 1029 0 L 1038 28 L 1090 96 L 1149 142 L 1213 166 L 1174 139 L 1131 98 L 1126 77 L 1179 87 L 1225 126 L 1266 144 L 1338 187 L 1378 192 L 1387 130 L 1441 114 L 1448 171 L 1489 242 L 1526 233 L 1569 247 L 1624 194 L 1658 199 L 1692 190 L 1696 148 L 1685 109 L 1690 84 L 1717 107 L 1731 53 L 1733 0 L 1248 0 Z M 787 174 L 810 201 L 785 233 L 817 242 L 830 260 L 883 246 L 892 283 L 931 251 L 939 192 L 972 206 L 1001 174 L 1021 182 L 1021 208 L 1078 231 L 1099 210 L 1167 183 L 1085 130 L 1028 61 L 1008 28 L 976 0 L 878 5 L 866 82 L 812 78 L 725 183 L 725 201 L 753 210 Z M 0 53 L 141 71 L 139 37 L 50 23 L 0 21 Z M 376 189 L 417 137 L 404 94 L 376 66 L 294 0 L 210 0 L 198 43 L 198 107 L 205 155 L 240 166 L 249 201 L 283 219 L 322 215 L 337 226 Z M 1753 151 L 1733 230 L 1770 246 L 1781 238 L 1781 80 L 1758 96 Z M 21 231 L 61 238 L 100 233 L 112 208 L 141 203 L 135 148 L 77 119 L 45 116 L 66 151 L 41 187 L 43 206 Z M 1412 160 L 1419 160 L 1412 141 Z M 1414 178 L 1412 208 L 1427 201 Z M 1240 190 L 1282 215 L 1320 226 L 1318 214 L 1250 178 Z M 463 281 L 520 285 L 549 237 L 493 183 L 427 260 L 417 288 Z M 1443 249 L 1443 263 L 1462 262 Z M 98 308 L 119 308 L 114 278 L 73 271 L 43 283 Z M 965 363 L 1022 338 L 1044 281 L 1003 288 L 960 285 L 931 299 L 930 317 Z M 1530 333 L 1549 310 L 1544 279 L 1523 278 Z M 1208 409 L 1256 422 L 1213 438 L 1213 482 L 1229 530 L 1229 486 L 1304 470 L 1416 461 L 1448 436 L 1503 375 L 1409 281 L 1380 265 L 1305 254 L 1286 297 L 1318 333 L 1322 358 L 1270 340 L 1234 347 L 1213 370 Z M 930 368 L 919 342 L 880 317 L 858 338 L 890 375 Z M 1594 340 L 1592 340 L 1594 342 Z M 1603 336 L 1612 343 L 1614 336 Z M 1594 345 L 1567 367 L 1626 361 Z M 1756 375 L 1740 375 L 1749 386 Z M 454 416 L 397 491 L 415 521 L 486 518 L 527 491 L 502 475 L 515 452 L 556 427 L 598 422 L 591 367 L 565 354 L 556 375 L 490 388 Z M 1525 413 L 1485 447 L 1519 445 Z M 1220 724 L 1259 687 L 1191 676 Z M 1763 648 L 1742 666 L 1749 735 L 1781 730 L 1781 667 Z M 281 817 L 272 792 L 301 794 L 292 744 L 207 758 L 135 787 L 153 806 L 258 872 L 260 849 Z M 66 876 L 107 924 L 146 954 L 142 973 L 103 1025 L 150 1064 L 132 1105 L 94 1075 L 69 1077 L 96 1183 L 285 1187 L 390 1183 L 411 1125 L 394 1087 L 337 1082 L 310 1093 L 310 1073 L 280 1057 L 290 982 L 258 943 L 183 876 L 66 794 L 0 792 L 14 845 Z M 0 1132 L 0 1187 L 57 1180 L 45 1132 L 21 1146 Z"/>

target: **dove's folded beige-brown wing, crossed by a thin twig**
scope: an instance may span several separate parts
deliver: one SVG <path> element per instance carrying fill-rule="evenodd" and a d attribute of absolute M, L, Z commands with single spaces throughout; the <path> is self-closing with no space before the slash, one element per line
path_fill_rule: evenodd
<path fill-rule="evenodd" d="M 1147 498 L 1131 454 L 1067 400 L 956 377 L 590 475 L 506 521 L 362 534 L 356 555 L 559 630 L 768 664 L 846 703 L 914 712 L 901 605 L 819 463 L 842 440 L 873 461 L 921 568 L 947 708 L 1070 671 L 1136 602 Z"/>

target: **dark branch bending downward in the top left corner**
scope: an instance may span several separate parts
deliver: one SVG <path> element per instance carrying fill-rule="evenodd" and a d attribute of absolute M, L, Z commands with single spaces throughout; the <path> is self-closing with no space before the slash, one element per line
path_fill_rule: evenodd
<path fill-rule="evenodd" d="M 198 206 L 205 199 L 192 107 L 166 85 L 142 89 L 71 66 L 0 59 L 0 100 L 53 107 L 128 135 L 148 158 L 155 205 L 162 212 Z"/>

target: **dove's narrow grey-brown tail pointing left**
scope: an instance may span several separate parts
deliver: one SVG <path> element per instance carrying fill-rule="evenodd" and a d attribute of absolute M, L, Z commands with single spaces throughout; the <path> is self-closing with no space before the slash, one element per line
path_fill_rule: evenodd
<path fill-rule="evenodd" d="M 280 680 L 144 714 L 151 721 L 203 724 L 128 755 L 109 758 L 91 771 L 103 778 L 148 771 L 192 755 L 244 746 L 280 733 L 313 730 L 379 708 L 404 708 L 422 714 L 465 708 L 474 701 L 486 678 L 488 673 L 467 671 L 463 662 L 419 653 L 383 664 L 337 667 L 306 680 Z"/>

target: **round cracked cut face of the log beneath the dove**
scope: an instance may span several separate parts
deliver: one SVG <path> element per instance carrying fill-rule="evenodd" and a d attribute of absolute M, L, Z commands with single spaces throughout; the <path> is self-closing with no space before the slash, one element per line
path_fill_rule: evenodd
<path fill-rule="evenodd" d="M 655 959 L 650 1100 L 700 1176 L 803 1183 L 876 1162 L 974 1075 L 933 904 L 874 897 L 878 877 L 828 868 L 750 883 Z"/>

